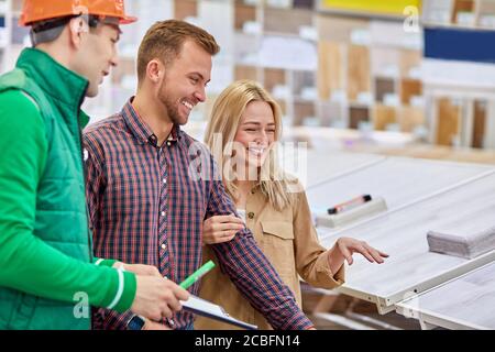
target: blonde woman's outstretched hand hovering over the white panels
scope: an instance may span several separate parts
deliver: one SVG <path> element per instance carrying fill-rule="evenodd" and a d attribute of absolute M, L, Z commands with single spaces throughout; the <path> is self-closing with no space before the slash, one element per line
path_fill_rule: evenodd
<path fill-rule="evenodd" d="M 388 257 L 388 254 L 383 253 L 374 248 L 372 248 L 370 244 L 367 244 L 364 241 L 360 241 L 352 238 L 340 238 L 337 240 L 336 244 L 333 245 L 333 249 L 330 251 L 334 251 L 334 253 L 329 254 L 331 256 L 332 254 L 337 257 L 341 255 L 342 258 L 348 261 L 349 265 L 352 265 L 354 262 L 352 258 L 352 255 L 354 253 L 360 253 L 363 255 L 370 263 L 378 263 L 382 264 L 384 262 L 384 257 Z M 329 258 L 330 260 L 330 258 Z"/>

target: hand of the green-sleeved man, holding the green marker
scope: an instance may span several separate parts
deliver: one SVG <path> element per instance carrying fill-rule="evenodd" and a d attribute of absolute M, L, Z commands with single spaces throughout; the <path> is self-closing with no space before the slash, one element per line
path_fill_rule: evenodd
<path fill-rule="evenodd" d="M 172 318 L 189 299 L 189 293 L 172 280 L 157 276 L 136 275 L 136 293 L 131 311 L 150 320 Z"/>

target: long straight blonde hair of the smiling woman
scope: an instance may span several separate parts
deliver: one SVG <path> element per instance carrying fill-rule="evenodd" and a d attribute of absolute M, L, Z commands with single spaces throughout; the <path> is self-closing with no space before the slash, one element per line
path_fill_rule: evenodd
<path fill-rule="evenodd" d="M 242 114 L 251 101 L 264 101 L 270 105 L 275 120 L 275 142 L 279 141 L 282 135 L 280 108 L 271 95 L 253 80 L 234 81 L 220 94 L 212 107 L 205 134 L 205 143 L 219 164 L 226 189 L 233 199 L 239 199 L 239 190 L 234 182 L 226 177 L 231 170 L 224 169 L 223 165 L 230 165 L 227 161 L 232 156 L 231 146 Z M 221 145 L 219 145 L 216 134 L 221 136 Z M 261 166 L 258 185 L 263 195 L 275 209 L 282 210 L 294 204 L 295 197 L 289 189 L 290 185 L 296 182 L 279 167 L 276 148 L 271 150 Z"/>

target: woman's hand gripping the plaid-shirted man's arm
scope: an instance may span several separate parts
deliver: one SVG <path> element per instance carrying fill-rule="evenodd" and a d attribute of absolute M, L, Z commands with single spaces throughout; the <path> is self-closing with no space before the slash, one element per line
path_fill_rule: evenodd
<path fill-rule="evenodd" d="M 235 233 L 244 229 L 244 221 L 235 216 L 216 216 L 202 223 L 202 244 L 231 241 Z"/>

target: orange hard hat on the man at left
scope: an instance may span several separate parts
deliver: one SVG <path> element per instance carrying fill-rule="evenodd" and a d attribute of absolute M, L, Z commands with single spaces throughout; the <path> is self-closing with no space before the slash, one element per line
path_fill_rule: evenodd
<path fill-rule="evenodd" d="M 80 14 L 117 18 L 120 24 L 138 20 L 125 14 L 123 0 L 24 0 L 19 24 Z"/>

